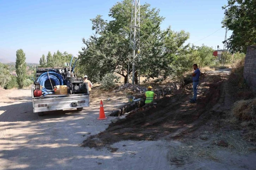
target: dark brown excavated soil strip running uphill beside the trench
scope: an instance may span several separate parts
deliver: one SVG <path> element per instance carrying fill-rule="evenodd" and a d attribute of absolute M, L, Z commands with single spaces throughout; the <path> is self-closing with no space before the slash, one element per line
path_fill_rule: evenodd
<path fill-rule="evenodd" d="M 122 140 L 158 140 L 178 138 L 199 127 L 218 103 L 227 74 L 209 73 L 200 80 L 196 103 L 189 103 L 192 84 L 171 96 L 131 112 L 94 136 L 83 141 L 84 147 L 100 148 Z"/>

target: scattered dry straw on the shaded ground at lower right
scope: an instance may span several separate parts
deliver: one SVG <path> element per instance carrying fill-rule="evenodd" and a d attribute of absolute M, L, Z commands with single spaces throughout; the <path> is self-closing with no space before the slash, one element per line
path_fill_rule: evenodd
<path fill-rule="evenodd" d="M 235 155 L 245 155 L 251 151 L 255 151 L 256 147 L 250 142 L 245 141 L 240 135 L 240 131 L 219 132 L 215 134 L 201 135 L 209 138 L 208 140 L 200 141 L 199 139 L 186 139 L 181 145 L 171 146 L 170 153 L 172 157 L 189 156 L 194 159 L 209 159 L 218 162 L 217 152 L 225 150 Z M 202 139 L 201 139 L 202 140 Z M 227 147 L 218 146 L 214 141 L 224 140 L 228 143 Z"/>

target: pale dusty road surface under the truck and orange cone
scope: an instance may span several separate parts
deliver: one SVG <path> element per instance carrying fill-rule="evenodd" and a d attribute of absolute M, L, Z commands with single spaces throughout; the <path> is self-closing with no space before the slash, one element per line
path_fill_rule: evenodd
<path fill-rule="evenodd" d="M 220 153 L 219 162 L 198 160 L 173 165 L 169 146 L 180 141 L 120 141 L 107 148 L 90 149 L 80 144 L 104 131 L 116 117 L 97 120 L 95 103 L 83 111 L 48 112 L 38 117 L 32 111 L 30 90 L 0 91 L 0 169 L 253 169 L 255 155 Z M 123 101 L 104 101 L 106 110 Z M 106 112 L 108 114 L 108 112 Z M 241 162 L 242 161 L 242 162 Z"/>

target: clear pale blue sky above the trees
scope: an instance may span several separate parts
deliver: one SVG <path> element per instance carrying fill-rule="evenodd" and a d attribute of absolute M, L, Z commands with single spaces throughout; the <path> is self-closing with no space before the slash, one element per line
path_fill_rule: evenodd
<path fill-rule="evenodd" d="M 24 50 L 28 63 L 39 63 L 48 51 L 67 51 L 77 56 L 84 46 L 82 38 L 87 39 L 93 33 L 90 19 L 100 14 L 110 20 L 109 9 L 116 2 L 0 0 L 0 59 L 15 62 L 18 49 Z M 185 30 L 190 33 L 187 43 L 223 48 L 225 29 L 221 29 L 224 18 L 221 7 L 227 0 L 140 0 L 140 4 L 145 2 L 159 8 L 160 15 L 165 17 L 161 29 L 171 26 L 174 31 Z M 228 31 L 227 37 L 231 33 Z"/>

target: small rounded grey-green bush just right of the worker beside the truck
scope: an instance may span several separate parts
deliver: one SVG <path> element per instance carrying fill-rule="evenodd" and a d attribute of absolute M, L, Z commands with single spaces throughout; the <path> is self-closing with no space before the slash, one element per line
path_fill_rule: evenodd
<path fill-rule="evenodd" d="M 118 83 L 119 80 L 120 80 L 119 76 L 108 73 L 102 77 L 102 80 L 99 81 L 99 83 L 101 84 L 102 89 L 109 89 L 115 86 L 115 84 Z"/>

